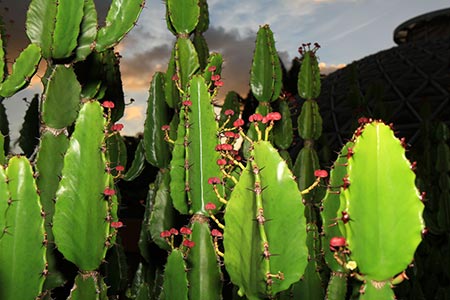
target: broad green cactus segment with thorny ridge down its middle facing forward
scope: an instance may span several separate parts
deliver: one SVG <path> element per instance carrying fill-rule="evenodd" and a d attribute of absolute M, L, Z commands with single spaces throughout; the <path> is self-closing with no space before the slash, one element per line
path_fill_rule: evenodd
<path fill-rule="evenodd" d="M 298 281 L 308 253 L 304 208 L 291 171 L 267 141 L 253 144 L 251 161 L 227 204 L 224 261 L 240 295 L 258 299 Z"/>

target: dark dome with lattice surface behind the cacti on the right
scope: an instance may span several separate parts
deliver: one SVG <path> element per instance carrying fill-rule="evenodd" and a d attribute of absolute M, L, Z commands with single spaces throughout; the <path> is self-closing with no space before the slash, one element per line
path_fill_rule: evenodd
<path fill-rule="evenodd" d="M 450 9 L 399 25 L 398 46 L 327 76 L 318 99 L 323 135 L 332 149 L 351 137 L 359 117 L 394 123 L 414 144 L 424 121 L 450 125 Z"/>

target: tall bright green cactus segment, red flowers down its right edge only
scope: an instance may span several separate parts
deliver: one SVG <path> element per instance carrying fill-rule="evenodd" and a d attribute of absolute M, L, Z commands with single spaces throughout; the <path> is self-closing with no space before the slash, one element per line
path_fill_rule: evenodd
<path fill-rule="evenodd" d="M 87 102 L 80 110 L 75 131 L 64 157 L 57 191 L 53 233 L 59 251 L 84 271 L 98 268 L 105 257 L 110 233 L 109 203 L 103 191 L 109 185 L 105 172 L 103 109 Z"/>

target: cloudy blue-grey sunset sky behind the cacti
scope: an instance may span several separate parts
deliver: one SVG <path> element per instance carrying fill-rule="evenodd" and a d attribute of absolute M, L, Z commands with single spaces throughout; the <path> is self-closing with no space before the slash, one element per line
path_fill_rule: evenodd
<path fill-rule="evenodd" d="M 179 0 L 182 1 L 182 0 Z M 24 33 L 29 0 L 0 0 L 0 14 L 11 36 L 8 61 L 11 63 L 28 40 Z M 110 0 L 95 0 L 104 18 Z M 210 51 L 222 54 L 225 82 L 219 97 L 229 90 L 245 96 L 249 90 L 250 65 L 256 32 L 269 24 L 276 48 L 286 65 L 298 56 L 299 45 L 318 42 L 321 69 L 329 73 L 378 51 L 394 47 L 393 31 L 404 21 L 450 7 L 448 0 L 209 0 L 210 26 L 205 33 Z M 167 30 L 165 4 L 146 0 L 137 25 L 116 47 L 122 55 L 121 73 L 128 105 L 121 123 L 124 135 L 142 132 L 148 87 L 155 71 L 165 71 L 175 41 Z M 40 72 L 43 72 L 41 68 Z M 39 73 L 38 73 L 39 75 Z M 23 98 L 41 93 L 35 76 L 26 90 L 4 103 L 9 114 L 12 139 L 17 138 L 26 109 Z"/>

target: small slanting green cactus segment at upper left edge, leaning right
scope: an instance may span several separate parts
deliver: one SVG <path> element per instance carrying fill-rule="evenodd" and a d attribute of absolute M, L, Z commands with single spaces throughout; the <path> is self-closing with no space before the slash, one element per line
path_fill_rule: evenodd
<path fill-rule="evenodd" d="M 12 66 L 12 73 L 0 84 L 0 96 L 8 98 L 25 88 L 31 81 L 41 60 L 41 48 L 29 44 Z"/>

